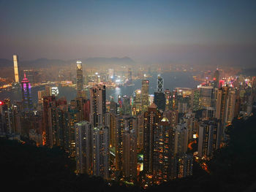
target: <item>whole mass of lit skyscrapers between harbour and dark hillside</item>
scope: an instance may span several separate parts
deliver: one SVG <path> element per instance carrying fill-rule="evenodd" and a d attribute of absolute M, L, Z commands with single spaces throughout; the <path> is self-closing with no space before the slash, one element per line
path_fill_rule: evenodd
<path fill-rule="evenodd" d="M 17 57 L 14 66 L 19 81 Z M 228 139 L 225 127 L 233 118 L 250 115 L 256 98 L 255 77 L 222 83 L 217 70 L 211 81 L 195 89 L 173 91 L 164 89 L 159 73 L 154 96 L 149 95 L 149 80 L 144 77 L 133 96 L 107 101 L 106 87 L 100 82 L 89 93 L 84 91 L 81 61 L 76 72 L 75 99 L 67 103 L 58 98 L 56 88 L 46 87 L 38 93 L 37 109 L 24 75 L 23 100 L 1 104 L 1 134 L 62 147 L 75 158 L 78 174 L 138 180 L 143 186 L 191 176 L 195 157 L 211 158 Z M 130 76 L 129 69 L 129 81 Z M 189 144 L 195 141 L 197 152 L 192 153 Z"/>

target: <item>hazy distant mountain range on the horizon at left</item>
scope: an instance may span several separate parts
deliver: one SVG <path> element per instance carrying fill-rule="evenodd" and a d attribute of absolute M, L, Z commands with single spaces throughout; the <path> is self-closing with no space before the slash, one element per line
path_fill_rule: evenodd
<path fill-rule="evenodd" d="M 79 60 L 79 59 L 78 59 Z M 87 66 L 99 66 L 99 65 L 134 65 L 136 64 L 131 58 L 82 58 L 80 59 L 83 64 Z M 32 68 L 44 68 L 49 66 L 66 66 L 70 64 L 75 64 L 77 60 L 63 61 L 59 59 L 48 59 L 48 58 L 38 58 L 32 61 L 19 61 L 20 67 L 32 67 Z M 13 66 L 13 61 L 7 60 L 5 58 L 0 58 L 0 67 Z"/>

